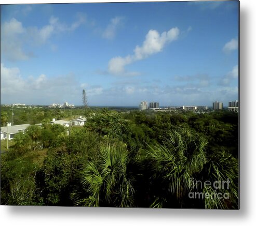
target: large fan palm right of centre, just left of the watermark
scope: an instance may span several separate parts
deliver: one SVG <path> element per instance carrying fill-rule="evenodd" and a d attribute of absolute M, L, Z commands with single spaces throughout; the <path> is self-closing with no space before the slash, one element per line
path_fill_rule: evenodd
<path fill-rule="evenodd" d="M 206 163 L 207 141 L 188 129 L 169 133 L 166 145 L 157 144 L 143 150 L 140 159 L 150 172 L 152 204 L 163 207 L 172 199 L 182 206 L 182 199 L 193 188 L 193 175 Z"/>

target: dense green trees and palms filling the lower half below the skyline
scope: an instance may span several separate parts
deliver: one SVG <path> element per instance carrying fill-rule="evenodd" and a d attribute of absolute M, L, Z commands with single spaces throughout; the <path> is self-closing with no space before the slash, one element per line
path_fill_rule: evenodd
<path fill-rule="evenodd" d="M 1 155 L 2 205 L 238 208 L 237 113 L 87 108 L 68 134 L 49 121 L 84 107 L 13 112 L 32 126 Z M 227 199 L 191 198 L 216 192 L 214 182 L 228 182 L 217 188 Z"/>

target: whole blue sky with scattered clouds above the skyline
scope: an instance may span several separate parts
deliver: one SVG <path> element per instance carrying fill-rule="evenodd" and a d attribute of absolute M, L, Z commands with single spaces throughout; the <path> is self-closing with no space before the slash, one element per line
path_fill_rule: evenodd
<path fill-rule="evenodd" d="M 1 103 L 227 106 L 238 2 L 1 6 Z"/>

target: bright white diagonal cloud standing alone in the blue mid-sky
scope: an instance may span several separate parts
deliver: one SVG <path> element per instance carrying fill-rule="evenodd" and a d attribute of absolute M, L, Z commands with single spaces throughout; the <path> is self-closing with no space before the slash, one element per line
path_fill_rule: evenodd
<path fill-rule="evenodd" d="M 117 56 L 110 59 L 109 72 L 115 75 L 126 76 L 138 74 L 138 72 L 126 72 L 125 66 L 162 51 L 167 43 L 178 39 L 179 33 L 178 27 L 171 28 L 168 32 L 163 32 L 161 35 L 156 30 L 150 30 L 146 34 L 142 46 L 136 46 L 133 50 L 133 55 L 127 55 L 126 57 Z"/>

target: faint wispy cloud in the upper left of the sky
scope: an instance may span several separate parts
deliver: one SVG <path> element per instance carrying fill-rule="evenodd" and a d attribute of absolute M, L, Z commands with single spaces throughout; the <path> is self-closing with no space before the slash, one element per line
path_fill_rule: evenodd
<path fill-rule="evenodd" d="M 44 44 L 53 34 L 74 31 L 85 21 L 85 16 L 78 14 L 75 22 L 66 25 L 52 16 L 49 24 L 38 28 L 23 27 L 20 21 L 12 18 L 1 24 L 1 54 L 9 61 L 24 61 L 33 56 L 33 53 L 24 51 L 26 44 Z"/>

